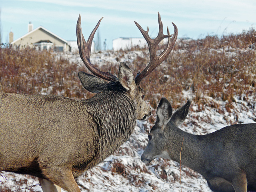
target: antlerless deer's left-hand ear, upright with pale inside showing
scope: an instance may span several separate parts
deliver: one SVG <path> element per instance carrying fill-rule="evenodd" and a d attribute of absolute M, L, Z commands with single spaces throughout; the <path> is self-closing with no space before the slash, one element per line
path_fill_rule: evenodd
<path fill-rule="evenodd" d="M 172 106 L 166 98 L 162 98 L 156 110 L 156 122 L 164 128 L 172 117 Z"/>

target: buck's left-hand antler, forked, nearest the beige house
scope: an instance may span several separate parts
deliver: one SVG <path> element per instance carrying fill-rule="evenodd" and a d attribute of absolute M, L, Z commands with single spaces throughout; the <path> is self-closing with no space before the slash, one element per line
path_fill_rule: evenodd
<path fill-rule="evenodd" d="M 79 54 L 80 54 L 82 61 L 84 62 L 85 66 L 88 68 L 88 70 L 90 70 L 90 72 L 92 72 L 94 75 L 96 75 L 100 78 L 103 78 L 105 80 L 116 81 L 116 80 L 118 80 L 118 78 L 116 76 L 110 74 L 110 72 L 102 72 L 101 70 L 98 70 L 96 67 L 92 66 L 92 64 L 90 62 L 92 40 L 93 40 L 96 30 L 98 29 L 98 27 L 100 25 L 100 21 L 102 20 L 102 18 L 99 20 L 99 22 L 96 25 L 96 27 L 94 28 L 94 30 L 92 30 L 92 33 L 90 34 L 90 36 L 86 42 L 84 39 L 84 36 L 82 34 L 81 16 L 79 14 L 79 18 L 78 18 L 77 24 L 76 24 L 76 39 L 77 39 L 78 50 L 79 50 Z"/>

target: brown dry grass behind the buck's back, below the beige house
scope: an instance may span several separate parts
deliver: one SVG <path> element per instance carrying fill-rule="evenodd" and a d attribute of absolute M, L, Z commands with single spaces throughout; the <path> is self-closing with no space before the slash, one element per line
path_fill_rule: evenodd
<path fill-rule="evenodd" d="M 0 91 L 21 94 L 56 94 L 70 98 L 90 96 L 82 88 L 79 67 L 56 59 L 50 51 L 33 48 L 0 48 Z"/>

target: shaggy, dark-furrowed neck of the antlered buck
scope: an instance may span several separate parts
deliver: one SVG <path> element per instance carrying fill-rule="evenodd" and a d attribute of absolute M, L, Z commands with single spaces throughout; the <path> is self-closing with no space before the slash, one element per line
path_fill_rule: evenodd
<path fill-rule="evenodd" d="M 134 101 L 124 92 L 97 95 L 90 102 L 98 151 L 104 160 L 131 136 L 136 126 Z"/>

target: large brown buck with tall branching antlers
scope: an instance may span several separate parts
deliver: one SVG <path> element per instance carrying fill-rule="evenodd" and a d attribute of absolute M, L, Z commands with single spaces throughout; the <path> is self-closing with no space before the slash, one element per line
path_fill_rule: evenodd
<path fill-rule="evenodd" d="M 170 54 L 177 39 L 177 27 L 173 24 L 173 36 L 168 27 L 168 34 L 164 35 L 158 13 L 158 36 L 151 39 L 148 30 L 135 22 L 148 43 L 150 62 L 135 79 L 130 68 L 121 62 L 117 78 L 90 63 L 93 36 L 101 20 L 87 42 L 80 28 L 80 15 L 76 25 L 80 57 L 99 78 L 84 72 L 78 76 L 84 88 L 96 93 L 95 96 L 75 100 L 54 95 L 0 93 L 0 171 L 36 176 L 44 192 L 61 188 L 80 192 L 75 178 L 128 140 L 137 119 L 150 116 L 140 82 Z M 168 38 L 168 44 L 157 56 L 156 47 L 164 38 Z"/>

